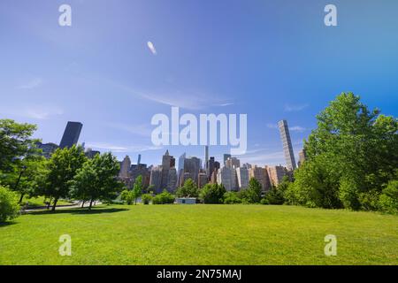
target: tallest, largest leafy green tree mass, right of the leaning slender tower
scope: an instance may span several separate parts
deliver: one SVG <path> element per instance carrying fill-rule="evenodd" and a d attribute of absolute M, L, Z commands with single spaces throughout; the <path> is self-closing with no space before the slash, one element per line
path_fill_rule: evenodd
<path fill-rule="evenodd" d="M 317 119 L 289 195 L 307 206 L 371 209 L 396 178 L 398 120 L 368 110 L 352 93 L 337 96 Z"/>

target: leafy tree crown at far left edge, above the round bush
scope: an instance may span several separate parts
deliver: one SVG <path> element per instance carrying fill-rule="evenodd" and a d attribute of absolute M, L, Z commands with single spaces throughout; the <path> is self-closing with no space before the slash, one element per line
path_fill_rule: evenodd
<path fill-rule="evenodd" d="M 30 137 L 35 130 L 35 125 L 0 119 L 0 173 L 12 171 L 13 165 L 34 150 L 36 141 Z"/>

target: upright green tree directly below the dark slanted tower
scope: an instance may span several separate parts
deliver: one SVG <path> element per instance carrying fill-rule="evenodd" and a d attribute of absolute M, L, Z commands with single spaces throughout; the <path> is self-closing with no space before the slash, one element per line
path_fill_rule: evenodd
<path fill-rule="evenodd" d="M 49 172 L 42 182 L 42 186 L 45 186 L 42 190 L 46 195 L 54 198 L 52 210 L 56 209 L 59 198 L 70 194 L 71 181 L 86 160 L 83 149 L 74 145 L 70 149 L 57 149 L 52 154 Z"/>

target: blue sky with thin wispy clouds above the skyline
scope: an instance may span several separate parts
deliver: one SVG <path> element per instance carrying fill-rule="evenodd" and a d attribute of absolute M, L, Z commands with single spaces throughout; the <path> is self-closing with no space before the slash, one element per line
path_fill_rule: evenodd
<path fill-rule="evenodd" d="M 72 6 L 72 27 L 58 26 L 60 4 Z M 338 27 L 325 27 L 325 4 L 337 6 Z M 37 124 L 35 137 L 57 143 L 80 121 L 89 147 L 160 164 L 154 114 L 244 113 L 241 160 L 285 164 L 278 120 L 298 155 L 342 91 L 397 115 L 397 30 L 394 0 L 2 0 L 0 118 Z M 167 149 L 203 157 L 202 147 Z"/>

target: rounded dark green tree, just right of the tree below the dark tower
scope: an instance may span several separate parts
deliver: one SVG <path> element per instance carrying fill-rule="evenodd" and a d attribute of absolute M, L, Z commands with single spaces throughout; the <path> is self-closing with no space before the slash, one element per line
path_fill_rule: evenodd
<path fill-rule="evenodd" d="M 122 186 L 117 180 L 119 170 L 119 162 L 110 152 L 97 154 L 77 170 L 70 182 L 71 195 L 83 201 L 89 200 L 88 210 L 91 210 L 95 200 L 115 198 Z"/>

